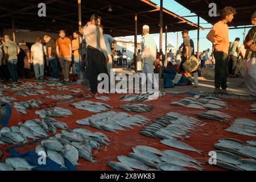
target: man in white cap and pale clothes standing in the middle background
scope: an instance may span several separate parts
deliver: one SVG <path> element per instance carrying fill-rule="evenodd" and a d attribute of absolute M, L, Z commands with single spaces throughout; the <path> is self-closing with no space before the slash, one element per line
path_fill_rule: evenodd
<path fill-rule="evenodd" d="M 143 31 L 143 39 L 141 43 L 141 52 L 142 52 L 142 60 L 143 60 L 143 68 L 142 73 L 145 73 L 148 80 L 152 82 L 152 86 L 154 85 L 155 75 L 153 64 L 156 60 L 156 44 L 154 38 L 149 34 L 149 27 L 144 25 L 142 28 Z M 142 83 L 144 85 L 146 83 Z"/>

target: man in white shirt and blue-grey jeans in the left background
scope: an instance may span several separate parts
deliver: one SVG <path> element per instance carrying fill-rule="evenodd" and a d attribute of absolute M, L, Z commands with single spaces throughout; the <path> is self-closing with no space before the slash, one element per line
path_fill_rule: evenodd
<path fill-rule="evenodd" d="M 36 38 L 36 43 L 31 46 L 31 62 L 34 65 L 36 80 L 44 78 L 44 54 L 47 55 L 46 47 L 42 44 L 42 39 Z"/>

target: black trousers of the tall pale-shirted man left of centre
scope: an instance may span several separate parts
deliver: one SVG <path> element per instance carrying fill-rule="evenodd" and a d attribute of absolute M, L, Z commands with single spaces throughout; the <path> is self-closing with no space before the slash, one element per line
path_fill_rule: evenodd
<path fill-rule="evenodd" d="M 106 58 L 104 54 L 98 49 L 88 47 L 87 49 L 88 57 L 88 78 L 90 83 L 90 91 L 94 94 L 97 93 L 98 86 L 98 75 L 100 73 L 106 73 L 108 75 L 108 69 L 106 66 Z M 107 90 L 106 90 L 107 91 Z"/>

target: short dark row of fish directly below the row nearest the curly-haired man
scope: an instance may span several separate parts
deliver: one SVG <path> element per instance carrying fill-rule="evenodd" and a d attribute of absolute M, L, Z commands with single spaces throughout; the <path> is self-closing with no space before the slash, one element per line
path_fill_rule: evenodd
<path fill-rule="evenodd" d="M 219 120 L 219 121 L 229 120 L 229 119 L 233 118 L 231 115 L 222 113 L 221 111 L 217 111 L 217 110 L 208 110 L 207 112 L 197 113 L 196 115 L 200 118 Z"/>

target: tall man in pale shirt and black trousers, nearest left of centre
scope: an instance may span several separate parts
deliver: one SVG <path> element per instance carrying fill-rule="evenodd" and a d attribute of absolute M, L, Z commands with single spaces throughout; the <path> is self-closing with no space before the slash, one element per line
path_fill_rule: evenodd
<path fill-rule="evenodd" d="M 109 62 L 108 52 L 101 28 L 99 27 L 101 17 L 90 16 L 90 23 L 82 30 L 87 46 L 88 78 L 90 91 L 97 94 L 98 75 L 105 73 L 108 75 L 106 63 Z"/>

